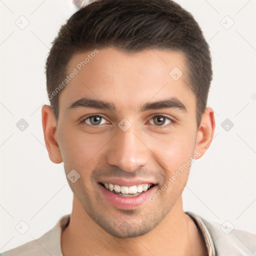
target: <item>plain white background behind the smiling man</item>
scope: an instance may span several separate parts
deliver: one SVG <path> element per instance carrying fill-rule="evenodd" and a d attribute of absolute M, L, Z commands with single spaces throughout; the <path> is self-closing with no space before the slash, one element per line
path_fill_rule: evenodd
<path fill-rule="evenodd" d="M 256 1 L 177 2 L 210 45 L 208 105 L 216 120 L 209 149 L 192 164 L 184 210 L 256 233 Z M 51 41 L 76 10 L 68 0 L 0 1 L 0 251 L 38 238 L 71 212 L 63 165 L 52 163 L 44 146 L 41 106 L 49 103 L 44 64 Z M 24 29 L 15 23 L 21 15 L 29 21 Z M 29 124 L 24 131 L 16 127 L 21 118 Z M 226 118 L 234 124 L 228 131 L 221 127 Z M 23 235 L 15 229 L 21 220 L 29 226 Z"/>

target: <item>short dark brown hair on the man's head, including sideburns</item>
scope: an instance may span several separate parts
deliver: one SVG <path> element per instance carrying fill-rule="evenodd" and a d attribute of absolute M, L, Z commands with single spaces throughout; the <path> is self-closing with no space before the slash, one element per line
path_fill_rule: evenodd
<path fill-rule="evenodd" d="M 208 43 L 193 16 L 172 0 L 95 0 L 75 12 L 52 42 L 45 64 L 47 93 L 58 118 L 56 86 L 74 53 L 116 47 L 124 52 L 158 48 L 182 51 L 200 123 L 212 79 Z M 63 86 L 61 86 L 63 87 Z"/>

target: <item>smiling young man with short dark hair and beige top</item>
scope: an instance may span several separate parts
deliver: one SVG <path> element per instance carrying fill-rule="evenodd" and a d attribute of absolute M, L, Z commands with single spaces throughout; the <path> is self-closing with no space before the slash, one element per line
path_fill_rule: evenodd
<path fill-rule="evenodd" d="M 74 13 L 50 49 L 42 107 L 72 212 L 1 255 L 255 254 L 256 235 L 227 235 L 182 208 L 214 133 L 211 79 L 208 44 L 173 1 L 99 0 Z"/>

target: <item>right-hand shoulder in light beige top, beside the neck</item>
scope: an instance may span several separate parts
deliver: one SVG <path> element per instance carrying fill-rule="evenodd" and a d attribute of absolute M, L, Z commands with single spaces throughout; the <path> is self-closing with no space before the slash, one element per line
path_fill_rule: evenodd
<path fill-rule="evenodd" d="M 206 220 L 200 215 L 187 211 L 190 216 L 201 221 L 207 228 L 214 244 L 216 255 L 255 255 L 256 234 L 236 229 L 214 221 Z M 231 225 L 231 223 L 230 223 Z"/>

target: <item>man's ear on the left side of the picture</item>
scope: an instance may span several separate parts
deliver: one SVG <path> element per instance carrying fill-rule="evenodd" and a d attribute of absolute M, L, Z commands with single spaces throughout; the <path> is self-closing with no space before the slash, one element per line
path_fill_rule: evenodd
<path fill-rule="evenodd" d="M 44 142 L 48 151 L 49 158 L 54 163 L 60 163 L 63 160 L 58 147 L 56 119 L 52 108 L 49 105 L 43 105 L 41 113 Z"/>

